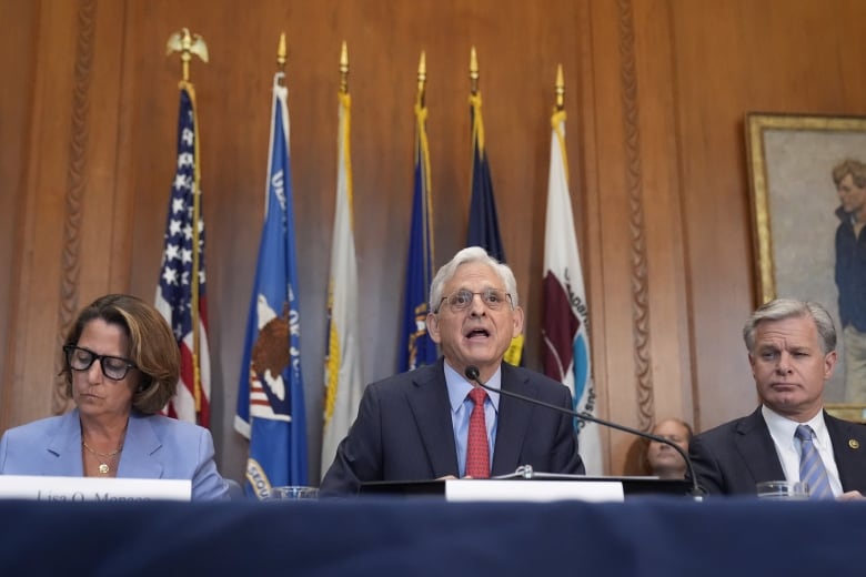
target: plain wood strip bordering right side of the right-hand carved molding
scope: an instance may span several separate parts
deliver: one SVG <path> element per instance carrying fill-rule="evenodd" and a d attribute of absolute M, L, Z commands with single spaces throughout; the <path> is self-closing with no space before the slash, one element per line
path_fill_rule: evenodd
<path fill-rule="evenodd" d="M 669 2 L 634 2 L 634 29 L 640 102 L 640 156 L 646 230 L 647 308 L 652 404 L 641 424 L 675 416 L 693 421 L 689 360 L 688 295 L 683 247 L 681 151 L 676 140 Z"/>

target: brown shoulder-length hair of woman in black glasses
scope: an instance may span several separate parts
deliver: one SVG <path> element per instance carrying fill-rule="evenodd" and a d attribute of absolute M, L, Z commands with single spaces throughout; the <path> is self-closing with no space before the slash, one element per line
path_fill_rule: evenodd
<path fill-rule="evenodd" d="M 137 296 L 107 294 L 79 313 L 63 345 L 77 345 L 84 326 L 95 318 L 123 327 L 129 337 L 129 360 L 141 373 L 139 387 L 132 393 L 132 408 L 145 415 L 159 413 L 174 395 L 180 378 L 180 350 L 169 324 Z M 66 357 L 61 375 L 71 398 L 72 372 Z"/>

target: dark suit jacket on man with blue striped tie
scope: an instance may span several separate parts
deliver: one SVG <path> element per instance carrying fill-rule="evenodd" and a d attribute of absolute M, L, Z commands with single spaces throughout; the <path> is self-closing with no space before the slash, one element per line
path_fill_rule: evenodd
<path fill-rule="evenodd" d="M 866 426 L 824 413 L 843 490 L 866 495 Z M 688 445 L 698 484 L 709 494 L 755 495 L 755 485 L 785 478 L 761 407 L 711 431 Z"/>

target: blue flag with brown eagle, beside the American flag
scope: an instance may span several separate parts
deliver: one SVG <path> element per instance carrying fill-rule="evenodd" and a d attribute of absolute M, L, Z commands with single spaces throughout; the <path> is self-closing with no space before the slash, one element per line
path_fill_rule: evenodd
<path fill-rule="evenodd" d="M 274 75 L 264 226 L 259 246 L 238 392 L 235 429 L 250 439 L 248 495 L 306 485 L 306 423 L 301 375 L 298 267 L 288 90 Z"/>

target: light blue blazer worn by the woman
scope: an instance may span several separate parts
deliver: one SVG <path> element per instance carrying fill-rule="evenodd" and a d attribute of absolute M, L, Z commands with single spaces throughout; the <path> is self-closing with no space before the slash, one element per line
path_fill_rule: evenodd
<path fill-rule="evenodd" d="M 7 431 L 0 439 L 0 474 L 82 476 L 78 409 Z M 229 498 L 213 462 L 210 431 L 161 415 L 130 415 L 118 477 L 190 479 L 193 500 Z"/>

